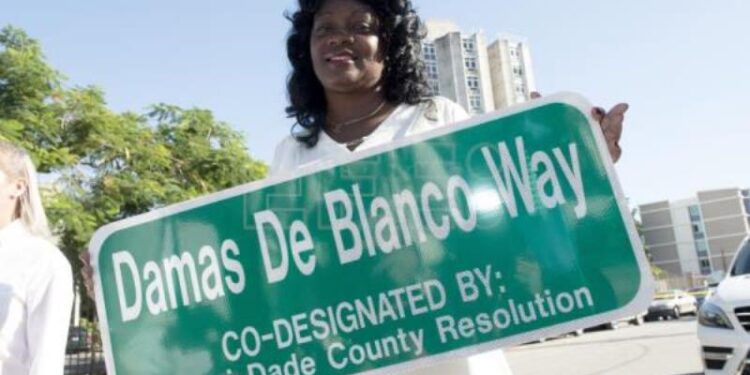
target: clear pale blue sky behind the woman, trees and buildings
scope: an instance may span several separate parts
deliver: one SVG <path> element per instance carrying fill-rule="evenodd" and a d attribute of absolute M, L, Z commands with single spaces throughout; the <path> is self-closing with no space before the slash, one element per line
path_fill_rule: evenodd
<path fill-rule="evenodd" d="M 68 85 L 116 111 L 207 108 L 267 163 L 289 134 L 283 17 L 295 2 L 0 0 Z M 750 187 L 750 1 L 414 0 L 423 19 L 525 37 L 537 89 L 626 116 L 616 166 L 631 205 Z"/>

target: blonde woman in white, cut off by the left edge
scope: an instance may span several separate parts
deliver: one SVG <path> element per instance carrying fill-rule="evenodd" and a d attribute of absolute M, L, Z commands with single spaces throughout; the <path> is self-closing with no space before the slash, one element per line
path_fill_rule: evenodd
<path fill-rule="evenodd" d="M 72 306 L 70 264 L 51 242 L 34 165 L 0 141 L 0 375 L 62 374 Z"/>

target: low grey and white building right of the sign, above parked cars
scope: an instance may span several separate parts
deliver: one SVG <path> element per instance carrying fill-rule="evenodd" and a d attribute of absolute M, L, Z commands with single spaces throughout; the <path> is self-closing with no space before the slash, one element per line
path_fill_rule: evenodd
<path fill-rule="evenodd" d="M 750 234 L 750 189 L 700 191 L 696 197 L 639 206 L 651 262 L 672 276 L 726 272 Z"/>

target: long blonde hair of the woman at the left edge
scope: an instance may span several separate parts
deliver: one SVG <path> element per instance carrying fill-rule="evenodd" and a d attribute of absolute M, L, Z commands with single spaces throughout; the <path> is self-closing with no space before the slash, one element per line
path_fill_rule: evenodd
<path fill-rule="evenodd" d="M 36 168 L 29 153 L 10 142 L 0 140 L 0 168 L 8 178 L 26 181 L 26 189 L 18 197 L 14 218 L 21 220 L 32 235 L 52 240 L 47 215 L 44 214 L 42 206 L 42 197 L 39 194 Z"/>

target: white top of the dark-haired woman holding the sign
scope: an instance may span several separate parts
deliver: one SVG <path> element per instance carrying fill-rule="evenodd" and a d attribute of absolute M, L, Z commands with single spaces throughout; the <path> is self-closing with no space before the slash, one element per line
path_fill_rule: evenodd
<path fill-rule="evenodd" d="M 299 168 L 315 163 L 325 162 L 340 155 L 349 155 L 388 142 L 419 134 L 430 129 L 451 125 L 469 118 L 463 107 L 443 97 L 417 104 L 402 104 L 388 118 L 365 138 L 354 151 L 346 145 L 337 143 L 325 132 L 320 132 L 318 143 L 308 148 L 294 137 L 287 136 L 276 146 L 276 153 L 271 163 L 271 176 L 293 174 Z M 409 375 L 510 375 L 512 371 L 505 360 L 502 350 L 494 350 L 468 358 L 443 361 L 418 370 L 406 372 Z"/>

